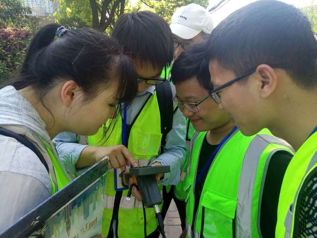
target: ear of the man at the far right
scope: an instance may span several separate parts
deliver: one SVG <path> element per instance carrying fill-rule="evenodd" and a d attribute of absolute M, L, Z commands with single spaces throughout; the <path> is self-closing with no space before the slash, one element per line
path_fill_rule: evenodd
<path fill-rule="evenodd" d="M 274 69 L 267 64 L 260 64 L 256 69 L 256 73 L 260 80 L 260 96 L 266 98 L 276 89 L 277 75 Z"/>

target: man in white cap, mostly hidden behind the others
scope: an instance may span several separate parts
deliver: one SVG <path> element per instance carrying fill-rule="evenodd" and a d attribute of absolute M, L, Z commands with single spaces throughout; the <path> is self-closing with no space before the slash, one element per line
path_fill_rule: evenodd
<path fill-rule="evenodd" d="M 209 11 L 197 4 L 189 4 L 178 8 L 171 18 L 171 31 L 174 38 L 174 60 L 194 42 L 207 39 L 213 29 L 213 19 Z M 193 136 L 194 128 L 189 119 L 186 119 L 186 144 L 187 152 L 189 143 Z M 180 175 L 183 180 L 187 168 L 188 153 L 186 161 Z M 165 214 L 173 199 L 179 213 L 182 229 L 185 229 L 185 203 L 183 194 L 183 182 L 176 186 L 164 187 L 164 201 L 162 215 Z"/>

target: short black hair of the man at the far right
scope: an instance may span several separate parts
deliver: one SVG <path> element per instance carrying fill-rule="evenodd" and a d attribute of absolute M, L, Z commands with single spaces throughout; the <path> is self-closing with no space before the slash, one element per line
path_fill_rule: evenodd
<path fill-rule="evenodd" d="M 279 1 L 261 0 L 230 14 L 212 31 L 207 52 L 236 75 L 264 63 L 285 69 L 302 88 L 317 86 L 317 41 L 309 20 Z"/>

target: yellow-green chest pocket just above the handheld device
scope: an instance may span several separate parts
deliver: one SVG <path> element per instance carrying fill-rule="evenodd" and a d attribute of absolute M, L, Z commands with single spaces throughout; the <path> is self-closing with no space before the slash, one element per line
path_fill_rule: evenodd
<path fill-rule="evenodd" d="M 131 130 L 129 148 L 137 159 L 149 159 L 159 154 L 162 134 Z"/>

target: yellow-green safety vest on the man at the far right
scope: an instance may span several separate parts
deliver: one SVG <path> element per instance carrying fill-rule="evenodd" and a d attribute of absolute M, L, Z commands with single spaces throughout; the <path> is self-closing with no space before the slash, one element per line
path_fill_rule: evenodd
<path fill-rule="evenodd" d="M 298 149 L 290 161 L 282 183 L 276 238 L 291 238 L 298 228 L 298 199 L 302 186 L 317 169 L 317 132 L 314 132 Z"/>

